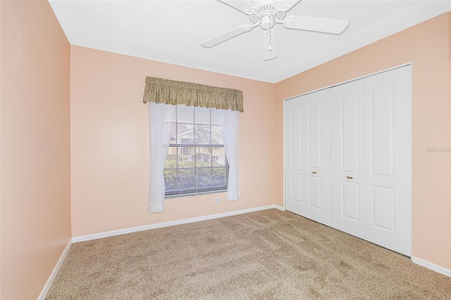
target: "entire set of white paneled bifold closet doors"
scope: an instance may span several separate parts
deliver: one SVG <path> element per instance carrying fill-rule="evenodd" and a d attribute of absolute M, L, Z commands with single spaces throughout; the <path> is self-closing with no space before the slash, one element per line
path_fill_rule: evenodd
<path fill-rule="evenodd" d="M 285 208 L 412 254 L 410 65 L 285 101 Z"/>

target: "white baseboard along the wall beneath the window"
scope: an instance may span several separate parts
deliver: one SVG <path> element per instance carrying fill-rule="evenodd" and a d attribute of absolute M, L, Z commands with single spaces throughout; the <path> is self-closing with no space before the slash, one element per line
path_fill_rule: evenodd
<path fill-rule="evenodd" d="M 273 205 L 268 205 L 268 206 L 260 206 L 260 207 L 256 207 L 256 208 L 242 209 L 240 211 L 229 211 L 227 213 L 216 213 L 214 215 L 204 215 L 202 217 L 196 217 L 196 218 L 188 218 L 188 219 L 175 220 L 175 221 L 164 222 L 164 223 L 156 223 L 156 224 L 151 224 L 151 225 L 130 227 L 130 228 L 125 228 L 125 229 L 120 229 L 120 230 L 99 232 L 99 233 L 94 233 L 93 235 L 82 235 L 80 237 L 73 237 L 72 242 L 74 242 L 74 243 L 85 242 L 85 241 L 90 241 L 92 239 L 101 239 L 102 237 L 113 237 L 115 235 L 125 235 L 127 233 L 138 232 L 138 231 L 143 231 L 143 230 L 168 227 L 168 226 L 180 225 L 180 224 L 186 224 L 186 223 L 193 223 L 193 222 L 211 220 L 211 219 L 216 219 L 216 218 L 223 218 L 223 217 L 228 217 L 229 215 L 240 215 L 241 213 L 252 213 L 254 211 L 264 211 L 265 209 L 270 209 L 270 208 L 277 208 L 280 211 L 285 211 L 285 208 L 283 208 L 282 206 L 273 204 Z"/>

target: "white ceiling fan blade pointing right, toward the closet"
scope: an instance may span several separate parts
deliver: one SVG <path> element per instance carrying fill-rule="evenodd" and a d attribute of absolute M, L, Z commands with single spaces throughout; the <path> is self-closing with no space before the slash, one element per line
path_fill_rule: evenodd
<path fill-rule="evenodd" d="M 309 30 L 340 35 L 347 26 L 348 20 L 310 17 L 307 15 L 290 15 L 283 22 L 283 26 L 288 29 Z"/>

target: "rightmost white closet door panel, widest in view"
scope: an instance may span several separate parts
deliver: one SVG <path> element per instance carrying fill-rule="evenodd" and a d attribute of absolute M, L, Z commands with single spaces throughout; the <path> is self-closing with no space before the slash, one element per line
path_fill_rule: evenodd
<path fill-rule="evenodd" d="M 366 239 L 412 254 L 410 66 L 365 78 Z"/>

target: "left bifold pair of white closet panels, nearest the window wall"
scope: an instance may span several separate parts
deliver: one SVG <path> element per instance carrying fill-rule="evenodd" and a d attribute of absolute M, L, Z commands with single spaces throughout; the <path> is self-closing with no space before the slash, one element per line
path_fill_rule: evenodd
<path fill-rule="evenodd" d="M 327 91 L 285 101 L 285 206 L 330 225 L 330 106 Z"/>

